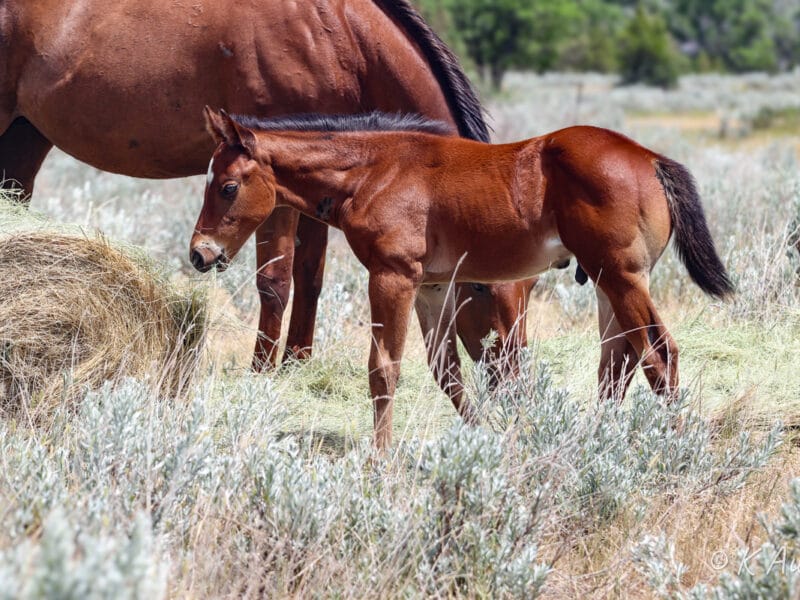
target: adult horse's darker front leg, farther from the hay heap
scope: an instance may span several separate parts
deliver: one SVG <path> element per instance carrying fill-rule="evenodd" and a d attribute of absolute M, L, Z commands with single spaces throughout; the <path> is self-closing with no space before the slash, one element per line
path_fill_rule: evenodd
<path fill-rule="evenodd" d="M 294 300 L 292 300 L 292 317 L 289 321 L 284 359 L 305 359 L 311 356 L 314 323 L 317 320 L 317 301 L 322 290 L 322 276 L 325 271 L 328 226 L 300 215 L 297 239 L 300 243 L 294 251 Z"/>

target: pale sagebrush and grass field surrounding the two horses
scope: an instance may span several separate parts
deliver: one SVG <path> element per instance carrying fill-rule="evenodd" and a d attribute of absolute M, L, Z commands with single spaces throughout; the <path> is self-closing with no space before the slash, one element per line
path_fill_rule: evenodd
<path fill-rule="evenodd" d="M 314 358 L 255 376 L 252 246 L 224 274 L 188 264 L 203 178 L 54 152 L 33 210 L 145 248 L 174 284 L 208 290 L 211 326 L 178 397 L 124 379 L 54 402 L 43 424 L 0 423 L 0 597 L 797 597 L 798 98 L 800 73 L 671 92 L 509 76 L 489 102 L 497 141 L 588 123 L 687 165 L 738 293 L 704 297 L 667 250 L 652 291 L 684 401 L 663 406 L 640 374 L 603 406 L 591 286 L 548 273 L 521 379 L 490 393 L 465 358 L 475 429 L 412 328 L 388 457 L 368 443 L 366 273 L 340 235 Z"/>

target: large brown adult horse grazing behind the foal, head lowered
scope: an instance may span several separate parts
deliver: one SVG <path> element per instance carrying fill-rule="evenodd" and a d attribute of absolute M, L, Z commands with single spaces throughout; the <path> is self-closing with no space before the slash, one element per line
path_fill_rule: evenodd
<path fill-rule="evenodd" d="M 261 116 L 409 111 L 488 139 L 458 61 L 407 0 L 0 0 L 0 179 L 27 193 L 53 145 L 124 175 L 203 173 L 206 104 Z M 256 242 L 260 369 L 277 361 L 292 276 L 287 353 L 310 352 L 327 227 L 282 209 Z M 473 358 L 490 329 L 524 343 L 524 326 L 512 328 L 530 284 L 461 286 Z"/>

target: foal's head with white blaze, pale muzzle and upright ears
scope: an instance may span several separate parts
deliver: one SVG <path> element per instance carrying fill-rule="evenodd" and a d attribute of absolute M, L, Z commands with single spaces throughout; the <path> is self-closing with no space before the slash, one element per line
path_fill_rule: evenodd
<path fill-rule="evenodd" d="M 189 245 L 199 271 L 224 270 L 275 208 L 275 176 L 257 158 L 255 134 L 224 111 L 205 110 L 218 147 L 208 165 L 203 209 Z"/>

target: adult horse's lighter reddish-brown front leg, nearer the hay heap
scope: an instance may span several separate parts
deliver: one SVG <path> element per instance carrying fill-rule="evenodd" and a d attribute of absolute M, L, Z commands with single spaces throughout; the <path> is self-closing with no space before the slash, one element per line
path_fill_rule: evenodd
<path fill-rule="evenodd" d="M 279 206 L 256 230 L 256 287 L 261 302 L 253 370 L 274 367 L 278 360 L 283 311 L 289 301 L 299 213 Z"/>

